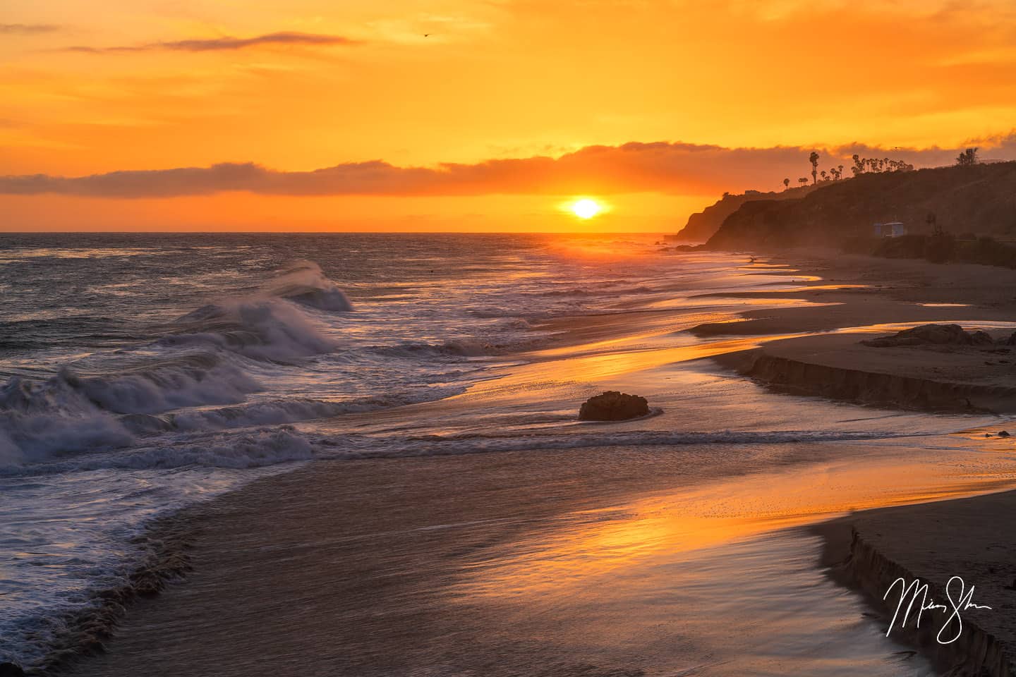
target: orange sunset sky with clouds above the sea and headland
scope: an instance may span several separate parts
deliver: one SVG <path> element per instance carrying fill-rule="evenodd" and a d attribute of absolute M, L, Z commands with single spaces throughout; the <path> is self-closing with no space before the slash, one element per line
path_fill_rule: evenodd
<path fill-rule="evenodd" d="M 1014 83 L 1011 0 L 4 0 L 0 230 L 675 231 Z"/>

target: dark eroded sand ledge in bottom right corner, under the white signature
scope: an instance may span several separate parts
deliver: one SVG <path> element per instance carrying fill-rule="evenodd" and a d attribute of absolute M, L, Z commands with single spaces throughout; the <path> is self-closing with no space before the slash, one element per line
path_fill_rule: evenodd
<path fill-rule="evenodd" d="M 959 638 L 936 640 L 943 614 L 926 612 L 919 629 L 912 622 L 892 635 L 919 646 L 950 677 L 1016 675 L 1016 532 L 1000 516 L 1016 510 L 1016 491 L 932 503 L 867 511 L 815 528 L 825 539 L 824 563 L 834 578 L 861 588 L 883 614 L 885 627 L 898 595 L 883 596 L 893 582 L 920 579 L 929 598 L 948 605 L 945 586 L 959 576 L 972 601 L 991 610 L 962 613 Z M 898 586 L 897 586 L 898 589 Z M 950 635 L 946 635 L 948 638 Z"/>

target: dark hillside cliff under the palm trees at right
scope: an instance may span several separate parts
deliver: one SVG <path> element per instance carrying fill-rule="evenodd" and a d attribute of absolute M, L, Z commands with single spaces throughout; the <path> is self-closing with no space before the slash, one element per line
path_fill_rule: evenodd
<path fill-rule="evenodd" d="M 928 232 L 926 219 L 953 233 L 1016 234 L 1016 162 L 865 174 L 819 185 L 803 198 L 743 203 L 709 239 L 709 249 L 837 246 L 871 236 L 878 222 Z"/>

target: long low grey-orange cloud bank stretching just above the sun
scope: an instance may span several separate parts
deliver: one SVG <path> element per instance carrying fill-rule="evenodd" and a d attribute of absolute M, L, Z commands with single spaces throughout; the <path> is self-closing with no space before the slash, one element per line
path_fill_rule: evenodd
<path fill-rule="evenodd" d="M 1016 135 L 990 139 L 986 158 L 1016 158 Z M 312 172 L 280 172 L 253 162 L 207 167 L 124 171 L 87 177 L 0 177 L 0 194 L 168 198 L 249 192 L 260 195 L 564 195 L 593 193 L 715 194 L 777 188 L 783 178 L 810 176 L 808 147 L 724 148 L 690 143 L 586 146 L 560 157 L 491 159 L 473 164 L 400 167 L 373 160 Z M 819 170 L 863 156 L 906 159 L 918 166 L 949 164 L 959 149 L 886 149 L 862 144 L 825 149 Z M 846 176 L 849 171 L 845 170 Z"/>

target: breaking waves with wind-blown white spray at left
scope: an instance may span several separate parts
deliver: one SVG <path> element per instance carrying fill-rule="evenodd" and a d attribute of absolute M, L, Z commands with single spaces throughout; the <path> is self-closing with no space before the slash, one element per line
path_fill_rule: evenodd
<path fill-rule="evenodd" d="M 353 304 L 316 264 L 299 261 L 263 291 L 189 313 L 165 327 L 167 333 L 154 342 L 105 355 L 99 368 L 85 364 L 87 374 L 65 365 L 46 381 L 11 377 L 0 387 L 0 473 L 55 457 L 132 447 L 161 432 L 290 423 L 386 406 L 383 398 L 244 405 L 250 394 L 264 390 L 253 368 L 258 362 L 288 364 L 336 348 L 305 308 L 348 313 Z M 208 405 L 244 406 L 194 409 Z M 306 443 L 296 455 L 262 454 L 256 446 L 239 441 L 230 463 L 310 456 Z M 223 465 L 223 454 L 206 456 Z"/>

